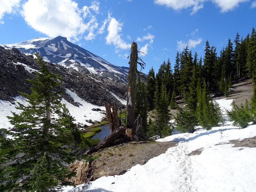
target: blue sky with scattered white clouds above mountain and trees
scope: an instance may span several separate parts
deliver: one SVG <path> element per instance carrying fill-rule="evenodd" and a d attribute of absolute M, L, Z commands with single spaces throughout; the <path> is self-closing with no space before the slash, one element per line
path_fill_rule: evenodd
<path fill-rule="evenodd" d="M 253 0 L 0 0 L 0 44 L 36 37 L 69 41 L 118 66 L 137 42 L 148 73 L 188 44 L 204 57 L 206 40 L 219 53 L 256 27 Z"/>

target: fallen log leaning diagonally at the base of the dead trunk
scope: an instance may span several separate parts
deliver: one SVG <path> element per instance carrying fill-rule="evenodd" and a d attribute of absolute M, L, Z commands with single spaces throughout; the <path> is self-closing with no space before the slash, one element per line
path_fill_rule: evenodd
<path fill-rule="evenodd" d="M 90 155 L 94 152 L 97 152 L 100 149 L 108 147 L 112 142 L 118 139 L 120 135 L 125 132 L 125 130 L 126 130 L 126 127 L 124 127 L 123 125 L 118 127 L 115 131 L 113 131 L 105 139 L 103 139 L 96 147 L 88 150 L 85 154 Z"/>

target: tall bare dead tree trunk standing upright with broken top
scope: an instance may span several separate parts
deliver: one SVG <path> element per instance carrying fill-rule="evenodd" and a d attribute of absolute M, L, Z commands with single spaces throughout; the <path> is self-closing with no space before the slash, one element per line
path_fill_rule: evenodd
<path fill-rule="evenodd" d="M 129 62 L 129 73 L 128 73 L 128 89 L 127 89 L 127 104 L 126 104 L 126 121 L 127 128 L 132 129 L 132 134 L 135 134 L 134 126 L 134 109 L 135 109 L 135 85 L 136 85 L 136 74 L 137 74 L 137 62 L 138 62 L 138 46 L 137 43 L 132 41 L 131 55 Z"/>

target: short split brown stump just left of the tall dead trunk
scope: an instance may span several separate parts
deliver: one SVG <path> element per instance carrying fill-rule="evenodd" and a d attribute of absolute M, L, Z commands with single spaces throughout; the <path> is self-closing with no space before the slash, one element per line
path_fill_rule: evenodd
<path fill-rule="evenodd" d="M 117 115 L 116 102 L 113 103 L 112 112 L 111 112 L 111 107 L 109 103 L 105 101 L 104 104 L 107 112 L 109 133 L 111 134 L 120 126 L 118 115 Z"/>

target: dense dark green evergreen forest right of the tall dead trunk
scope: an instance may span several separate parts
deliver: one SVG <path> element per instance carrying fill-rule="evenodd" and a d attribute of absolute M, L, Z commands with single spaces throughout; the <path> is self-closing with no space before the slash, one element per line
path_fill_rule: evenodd
<path fill-rule="evenodd" d="M 223 123 L 220 107 L 212 100 L 212 94 L 228 96 L 232 81 L 248 76 L 254 82 L 251 104 L 247 102 L 239 108 L 233 103 L 232 111 L 227 111 L 234 124 L 244 128 L 248 122 L 255 121 L 255 70 L 254 28 L 246 37 L 237 33 L 234 40 L 228 39 L 227 46 L 219 52 L 207 40 L 203 58 L 187 46 L 177 52 L 173 69 L 167 59 L 157 73 L 152 67 L 146 78 L 137 79 L 135 116 L 140 114 L 144 119 L 143 132 L 148 137 L 170 135 L 171 118 L 175 119 L 177 130 L 183 133 L 193 133 L 198 125 L 209 130 Z M 178 107 L 177 98 L 184 101 L 184 108 Z M 177 109 L 175 117 L 170 109 Z"/>

